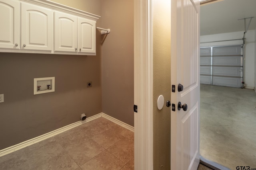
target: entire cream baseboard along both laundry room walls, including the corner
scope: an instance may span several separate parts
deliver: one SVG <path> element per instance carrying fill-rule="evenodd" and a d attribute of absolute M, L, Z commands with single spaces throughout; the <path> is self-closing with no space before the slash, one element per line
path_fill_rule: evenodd
<path fill-rule="evenodd" d="M 114 117 L 111 117 L 109 115 L 106 115 L 105 113 L 99 113 L 97 115 L 94 115 L 94 116 L 86 118 L 86 120 L 84 120 L 84 121 L 78 121 L 78 122 L 72 123 L 70 125 L 66 125 L 64 127 L 61 127 L 60 129 L 56 129 L 56 130 L 48 132 L 48 133 L 46 133 L 44 135 L 40 135 L 38 137 L 29 139 L 29 140 L 24 141 L 22 143 L 18 143 L 17 145 L 13 145 L 11 147 L 2 149 L 2 150 L 0 150 L 0 157 L 4 156 L 6 154 L 10 154 L 12 152 L 15 152 L 17 150 L 23 149 L 25 147 L 28 147 L 30 145 L 33 145 L 35 143 L 38 143 L 40 141 L 43 141 L 43 140 L 48 139 L 50 137 L 53 137 L 55 135 L 58 135 L 58 134 L 60 134 L 62 132 L 68 131 L 68 130 L 74 128 L 74 127 L 80 126 L 80 125 L 82 125 L 84 123 L 87 123 L 87 122 L 92 121 L 94 119 L 97 119 L 99 117 L 104 117 L 104 118 L 106 118 L 106 119 L 108 119 L 108 120 L 110 120 L 110 121 L 112 121 L 112 122 L 114 122 L 114 123 L 116 123 L 116 124 L 126 128 L 126 129 L 134 132 L 134 127 L 132 127 L 131 125 L 128 125 L 128 124 L 126 124 L 126 123 L 124 123 L 124 122 L 122 122 L 122 121 L 120 121 L 118 119 L 115 119 Z"/>

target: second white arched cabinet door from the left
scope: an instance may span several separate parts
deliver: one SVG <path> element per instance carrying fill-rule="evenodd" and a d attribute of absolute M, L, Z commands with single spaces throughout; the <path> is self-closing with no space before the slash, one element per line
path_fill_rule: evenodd
<path fill-rule="evenodd" d="M 21 49 L 52 50 L 53 11 L 21 4 Z"/>

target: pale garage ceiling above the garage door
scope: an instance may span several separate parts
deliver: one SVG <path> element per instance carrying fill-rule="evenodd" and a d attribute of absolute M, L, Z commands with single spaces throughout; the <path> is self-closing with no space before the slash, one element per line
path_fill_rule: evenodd
<path fill-rule="evenodd" d="M 203 5 L 200 7 L 200 35 L 245 31 L 244 20 L 238 19 L 248 17 L 254 17 L 248 30 L 256 29 L 256 0 L 223 0 Z"/>

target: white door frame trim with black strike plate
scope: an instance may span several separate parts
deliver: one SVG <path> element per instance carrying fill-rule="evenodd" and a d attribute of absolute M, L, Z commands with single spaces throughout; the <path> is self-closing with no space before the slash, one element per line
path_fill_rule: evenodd
<path fill-rule="evenodd" d="M 134 0 L 134 169 L 153 170 L 152 0 Z"/>

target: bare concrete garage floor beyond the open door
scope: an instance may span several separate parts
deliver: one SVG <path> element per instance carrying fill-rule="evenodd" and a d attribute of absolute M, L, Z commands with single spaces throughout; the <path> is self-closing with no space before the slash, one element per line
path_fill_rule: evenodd
<path fill-rule="evenodd" d="M 256 93 L 200 85 L 200 154 L 236 170 L 256 168 Z"/>

